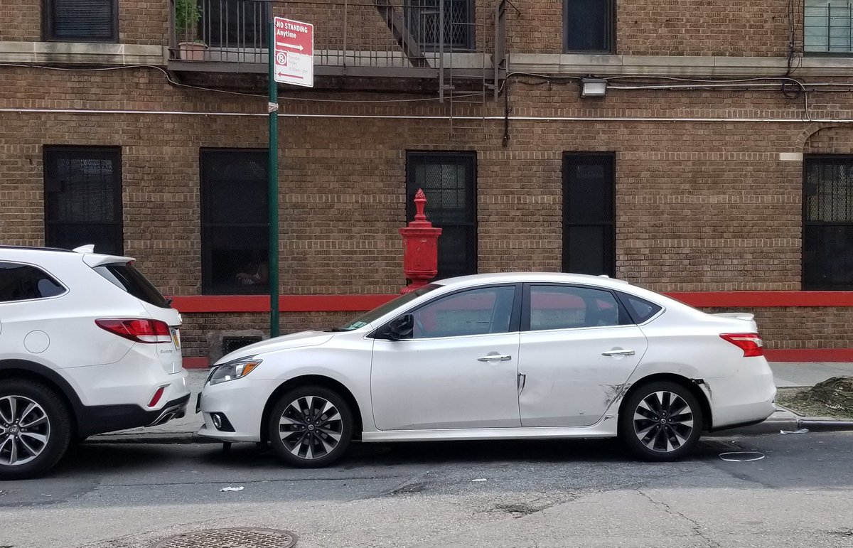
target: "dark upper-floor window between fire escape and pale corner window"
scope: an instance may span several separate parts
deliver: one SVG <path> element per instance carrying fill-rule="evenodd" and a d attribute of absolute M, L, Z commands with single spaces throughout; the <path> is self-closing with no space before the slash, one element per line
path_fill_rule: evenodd
<path fill-rule="evenodd" d="M 611 53 L 613 0 L 564 0 L 563 42 L 567 52 Z"/>

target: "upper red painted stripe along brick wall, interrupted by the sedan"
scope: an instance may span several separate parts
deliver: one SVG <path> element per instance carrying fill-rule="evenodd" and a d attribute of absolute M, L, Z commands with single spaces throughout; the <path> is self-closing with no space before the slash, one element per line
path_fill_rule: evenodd
<path fill-rule="evenodd" d="M 691 291 L 668 293 L 690 306 L 755 308 L 776 306 L 853 306 L 853 291 Z M 363 312 L 392 300 L 392 294 L 281 295 L 281 312 Z M 178 311 L 270 312 L 267 295 L 189 295 L 174 297 Z"/>

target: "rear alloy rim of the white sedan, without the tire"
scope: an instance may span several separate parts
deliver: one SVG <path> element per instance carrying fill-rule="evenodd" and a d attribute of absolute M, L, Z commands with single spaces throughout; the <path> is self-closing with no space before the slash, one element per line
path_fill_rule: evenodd
<path fill-rule="evenodd" d="M 693 411 L 678 394 L 661 390 L 641 399 L 634 410 L 634 434 L 652 451 L 673 452 L 693 433 Z"/>

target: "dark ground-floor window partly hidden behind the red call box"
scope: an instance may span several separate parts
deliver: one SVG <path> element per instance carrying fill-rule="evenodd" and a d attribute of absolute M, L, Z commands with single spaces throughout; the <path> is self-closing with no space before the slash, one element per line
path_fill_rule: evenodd
<path fill-rule="evenodd" d="M 438 278 L 477 273 L 477 154 L 406 154 L 406 207 L 415 219 L 415 193 L 427 195 L 427 219 L 441 228 Z"/>

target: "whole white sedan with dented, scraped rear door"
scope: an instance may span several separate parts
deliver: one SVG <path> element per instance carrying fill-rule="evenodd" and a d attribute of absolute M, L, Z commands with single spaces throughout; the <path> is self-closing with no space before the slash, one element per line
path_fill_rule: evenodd
<path fill-rule="evenodd" d="M 575 274 L 457 277 L 212 369 L 199 434 L 320 467 L 353 439 L 606 438 L 669 461 L 775 411 L 751 314 Z"/>

